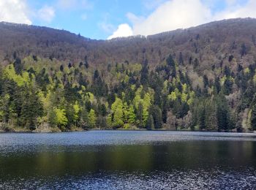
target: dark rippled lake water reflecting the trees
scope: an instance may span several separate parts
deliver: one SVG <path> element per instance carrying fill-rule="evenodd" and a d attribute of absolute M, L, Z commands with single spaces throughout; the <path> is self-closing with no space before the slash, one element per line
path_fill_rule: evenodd
<path fill-rule="evenodd" d="M 256 189 L 256 135 L 3 133 L 0 189 Z"/>

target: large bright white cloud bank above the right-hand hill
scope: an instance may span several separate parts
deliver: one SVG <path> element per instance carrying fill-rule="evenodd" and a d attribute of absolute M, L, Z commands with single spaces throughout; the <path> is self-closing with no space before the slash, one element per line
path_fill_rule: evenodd
<path fill-rule="evenodd" d="M 146 2 L 146 0 L 144 1 Z M 228 18 L 256 18 L 256 0 L 248 0 L 246 2 L 242 0 L 225 0 L 225 4 L 226 7 L 221 11 L 214 11 L 212 7 L 216 7 L 215 0 L 168 0 L 160 4 L 146 18 L 128 12 L 127 18 L 132 23 L 132 30 L 127 23 L 122 24 L 118 26 L 117 31 L 114 31 L 109 38 L 124 37 L 132 34 L 147 36 Z"/>

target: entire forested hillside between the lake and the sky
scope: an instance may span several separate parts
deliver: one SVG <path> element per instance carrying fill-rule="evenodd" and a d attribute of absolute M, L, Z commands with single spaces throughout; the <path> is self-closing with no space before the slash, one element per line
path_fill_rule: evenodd
<path fill-rule="evenodd" d="M 0 31 L 2 129 L 256 130 L 255 19 L 108 41 Z"/>

